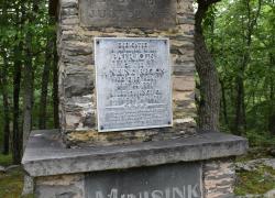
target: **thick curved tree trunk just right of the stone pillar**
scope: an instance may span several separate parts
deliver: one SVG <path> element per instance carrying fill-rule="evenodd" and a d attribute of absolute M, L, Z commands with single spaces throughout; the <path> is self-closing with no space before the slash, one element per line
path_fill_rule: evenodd
<path fill-rule="evenodd" d="M 195 14 L 195 59 L 200 78 L 198 127 L 205 131 L 219 130 L 220 86 L 218 72 L 205 43 L 201 23 L 210 4 L 218 1 L 198 1 L 198 10 Z"/>

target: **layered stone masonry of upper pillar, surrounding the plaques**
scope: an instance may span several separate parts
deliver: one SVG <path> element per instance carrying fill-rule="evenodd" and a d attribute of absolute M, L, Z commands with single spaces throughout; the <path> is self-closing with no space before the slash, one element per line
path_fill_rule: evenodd
<path fill-rule="evenodd" d="M 59 118 L 67 146 L 128 144 L 194 134 L 195 58 L 193 0 L 177 1 L 177 24 L 165 31 L 85 28 L 78 0 L 59 0 Z M 174 128 L 97 132 L 94 37 L 168 37 L 173 67 Z M 165 132 L 165 133 L 164 133 Z"/>

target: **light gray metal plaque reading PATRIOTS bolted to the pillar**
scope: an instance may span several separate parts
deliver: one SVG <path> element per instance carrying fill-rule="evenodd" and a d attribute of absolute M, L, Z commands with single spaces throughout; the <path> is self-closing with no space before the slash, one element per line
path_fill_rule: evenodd
<path fill-rule="evenodd" d="M 98 130 L 170 127 L 167 38 L 95 38 Z"/>

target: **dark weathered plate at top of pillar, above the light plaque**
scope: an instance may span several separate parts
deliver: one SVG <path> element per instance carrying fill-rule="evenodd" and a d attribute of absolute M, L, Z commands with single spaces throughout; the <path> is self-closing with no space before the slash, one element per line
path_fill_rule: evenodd
<path fill-rule="evenodd" d="M 86 26 L 168 29 L 176 24 L 176 0 L 79 0 Z"/>

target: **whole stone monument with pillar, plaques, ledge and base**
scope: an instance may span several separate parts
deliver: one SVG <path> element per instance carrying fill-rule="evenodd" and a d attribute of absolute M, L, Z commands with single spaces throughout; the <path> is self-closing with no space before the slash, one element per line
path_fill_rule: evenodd
<path fill-rule="evenodd" d="M 233 196 L 245 139 L 200 132 L 190 0 L 59 0 L 61 129 L 22 160 L 40 198 Z"/>

